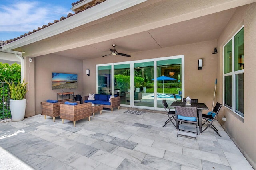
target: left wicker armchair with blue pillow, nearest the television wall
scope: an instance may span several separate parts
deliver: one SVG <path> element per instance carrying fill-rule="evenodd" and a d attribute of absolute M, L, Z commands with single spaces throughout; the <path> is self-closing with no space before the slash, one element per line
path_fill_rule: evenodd
<path fill-rule="evenodd" d="M 53 118 L 55 122 L 55 117 L 60 116 L 60 104 L 63 104 L 62 100 L 58 100 L 57 103 L 50 103 L 50 102 L 41 102 L 42 104 L 42 114 L 44 115 L 44 119 L 46 116 L 50 116 Z"/>

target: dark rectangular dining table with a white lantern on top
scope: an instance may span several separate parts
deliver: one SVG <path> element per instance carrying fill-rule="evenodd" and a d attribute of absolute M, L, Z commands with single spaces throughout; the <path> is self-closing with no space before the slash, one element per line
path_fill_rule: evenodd
<path fill-rule="evenodd" d="M 186 104 L 186 102 L 172 102 L 172 104 L 170 105 L 170 107 L 174 107 L 174 108 L 176 106 L 196 107 L 196 109 L 198 110 L 199 134 L 201 135 L 202 134 L 202 114 L 203 114 L 203 110 L 209 110 L 208 107 L 206 106 L 206 104 L 191 102 L 191 105 L 189 105 L 189 104 Z M 177 125 L 176 125 L 176 129 L 177 129 Z"/>

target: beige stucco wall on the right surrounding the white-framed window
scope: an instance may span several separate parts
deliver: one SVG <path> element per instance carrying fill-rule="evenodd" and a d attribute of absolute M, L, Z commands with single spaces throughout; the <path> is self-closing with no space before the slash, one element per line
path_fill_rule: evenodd
<path fill-rule="evenodd" d="M 255 119 L 255 84 L 256 84 L 256 3 L 239 7 L 218 39 L 220 58 L 218 60 L 220 84 L 218 101 L 223 103 L 223 46 L 244 25 L 244 119 L 223 106 L 218 121 L 238 146 L 250 164 L 256 168 L 256 119 Z M 226 117 L 226 122 L 222 117 Z"/>

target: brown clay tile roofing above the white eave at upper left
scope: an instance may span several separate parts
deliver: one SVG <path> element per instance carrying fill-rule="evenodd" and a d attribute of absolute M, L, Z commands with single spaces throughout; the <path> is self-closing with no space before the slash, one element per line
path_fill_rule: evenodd
<path fill-rule="evenodd" d="M 72 6 L 74 6 L 75 4 L 78 4 L 78 3 L 82 2 L 82 1 L 84 1 L 84 0 L 80 0 L 80 1 L 74 2 L 74 3 L 72 3 Z M 30 34 L 32 34 L 32 33 L 34 33 L 34 32 L 37 32 L 37 31 L 39 31 L 39 30 L 41 30 L 41 29 L 44 29 L 44 28 L 46 28 L 46 27 L 48 27 L 48 26 L 50 26 L 50 25 L 53 25 L 54 23 L 60 22 L 60 21 L 62 21 L 62 20 L 65 20 L 66 18 L 69 18 L 69 17 L 71 17 L 71 16 L 74 16 L 74 15 L 78 14 L 79 12 L 82 12 L 82 11 L 84 11 L 84 10 L 87 10 L 88 8 L 91 8 L 91 7 L 93 7 L 93 6 L 96 6 L 96 5 L 98 5 L 98 4 L 100 4 L 100 3 L 104 2 L 104 1 L 106 1 L 106 0 L 95 0 L 92 5 L 86 4 L 86 5 L 82 8 L 82 10 L 81 10 L 81 9 L 77 9 L 74 14 L 69 13 L 66 17 L 62 16 L 62 17 L 60 18 L 60 20 L 54 20 L 53 23 L 49 22 L 48 25 L 43 25 L 42 27 L 38 27 L 38 29 L 34 29 L 33 31 L 30 31 L 30 32 L 28 32 L 28 33 L 25 33 L 24 35 L 20 35 L 20 37 L 17 37 L 17 38 L 14 38 L 14 39 L 10 39 L 10 40 L 6 40 L 6 43 L 11 43 L 11 42 L 13 42 L 13 41 L 16 41 L 17 39 L 21 39 L 22 37 L 26 37 L 27 35 L 30 35 Z"/>

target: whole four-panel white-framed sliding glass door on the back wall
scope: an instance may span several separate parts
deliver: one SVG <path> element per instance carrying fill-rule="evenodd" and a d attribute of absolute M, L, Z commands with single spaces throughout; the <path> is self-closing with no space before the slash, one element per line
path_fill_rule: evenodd
<path fill-rule="evenodd" d="M 98 94 L 121 97 L 121 106 L 163 110 L 184 92 L 184 55 L 96 65 Z"/>

